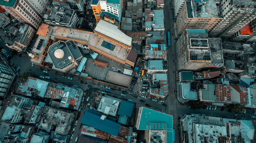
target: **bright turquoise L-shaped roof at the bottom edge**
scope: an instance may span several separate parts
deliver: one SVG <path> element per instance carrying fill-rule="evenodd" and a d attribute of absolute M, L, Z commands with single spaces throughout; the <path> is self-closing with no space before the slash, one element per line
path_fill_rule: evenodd
<path fill-rule="evenodd" d="M 138 130 L 166 130 L 167 142 L 174 142 L 173 116 L 145 107 L 140 107 L 139 116 Z"/>

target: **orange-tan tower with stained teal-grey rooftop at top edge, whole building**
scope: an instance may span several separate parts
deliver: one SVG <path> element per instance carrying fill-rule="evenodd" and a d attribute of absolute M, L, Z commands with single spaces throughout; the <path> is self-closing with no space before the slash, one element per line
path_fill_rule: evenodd
<path fill-rule="evenodd" d="M 205 29 L 210 32 L 221 19 L 219 0 L 203 3 L 186 1 L 176 19 L 177 33 L 180 35 L 189 28 Z"/>

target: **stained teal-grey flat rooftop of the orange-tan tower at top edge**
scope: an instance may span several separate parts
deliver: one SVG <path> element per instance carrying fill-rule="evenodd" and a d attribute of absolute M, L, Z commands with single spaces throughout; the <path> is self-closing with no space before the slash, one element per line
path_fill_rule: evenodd
<path fill-rule="evenodd" d="M 190 1 L 187 2 L 187 12 L 188 17 L 220 17 L 220 8 L 217 6 L 217 3 L 220 3 L 218 0 L 208 0 L 204 1 L 203 4 L 201 1 Z"/>

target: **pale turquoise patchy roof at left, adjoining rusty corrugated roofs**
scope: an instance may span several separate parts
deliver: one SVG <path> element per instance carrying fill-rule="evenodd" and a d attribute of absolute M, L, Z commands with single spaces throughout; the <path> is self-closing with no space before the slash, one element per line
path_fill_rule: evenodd
<path fill-rule="evenodd" d="M 16 93 L 26 96 L 35 94 L 40 97 L 45 97 L 48 84 L 48 81 L 28 77 L 28 79 L 23 79 L 22 82 L 20 82 Z"/>

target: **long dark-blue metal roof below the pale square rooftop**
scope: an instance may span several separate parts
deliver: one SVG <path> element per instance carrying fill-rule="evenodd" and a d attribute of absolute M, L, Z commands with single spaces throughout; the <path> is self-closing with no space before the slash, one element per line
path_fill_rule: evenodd
<path fill-rule="evenodd" d="M 84 112 L 81 123 L 116 137 L 121 125 L 109 120 L 108 117 L 104 120 L 101 120 L 101 115 L 103 114 L 95 110 L 88 109 L 86 112 Z"/>

